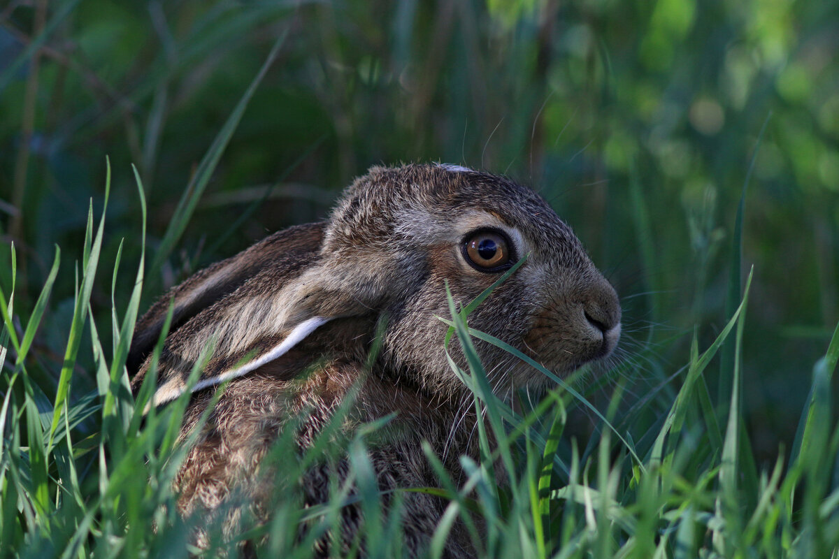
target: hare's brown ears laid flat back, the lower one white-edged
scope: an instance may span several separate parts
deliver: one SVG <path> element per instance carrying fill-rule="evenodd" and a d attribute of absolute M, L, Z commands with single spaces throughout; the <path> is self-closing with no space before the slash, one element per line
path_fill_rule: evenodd
<path fill-rule="evenodd" d="M 272 256 L 260 255 L 258 265 L 248 261 L 247 255 L 264 247 L 264 241 L 234 256 L 232 260 L 239 259 L 241 265 L 258 270 L 250 276 L 233 270 L 235 264 L 225 261 L 222 267 L 211 268 L 212 272 L 195 281 L 190 278 L 185 287 L 175 290 L 180 326 L 166 338 L 160 355 L 154 405 L 173 400 L 188 389 L 190 373 L 208 349 L 211 356 L 192 391 L 246 375 L 277 360 L 333 318 L 375 314 L 389 285 L 381 281 L 378 262 L 347 259 L 323 250 L 323 225 L 310 227 L 316 229 L 285 230 L 280 236 L 269 237 L 278 246 L 270 251 Z M 212 281 L 216 275 L 225 274 L 224 270 L 229 270 L 227 277 L 237 278 L 236 282 Z M 210 291 L 213 293 L 207 294 Z M 199 301 L 206 308 L 200 308 Z M 154 315 L 143 318 L 143 323 L 163 323 L 166 304 L 152 308 L 149 313 Z M 159 332 L 161 327 L 149 328 Z M 149 355 L 132 380 L 134 391 L 150 366 Z"/>

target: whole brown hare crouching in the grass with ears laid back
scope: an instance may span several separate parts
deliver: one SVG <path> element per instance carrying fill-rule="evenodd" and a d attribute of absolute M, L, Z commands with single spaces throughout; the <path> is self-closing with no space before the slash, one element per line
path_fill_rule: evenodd
<path fill-rule="evenodd" d="M 182 435 L 212 388 L 231 380 L 175 479 L 181 512 L 211 515 L 237 490 L 262 514 L 272 488 L 254 482 L 255 472 L 289 417 L 309 414 L 297 439 L 305 447 L 352 390 L 358 421 L 395 413 L 385 441 L 370 450 L 380 489 L 439 483 L 423 441 L 456 477 L 459 456 L 477 455 L 470 434 L 478 420 L 463 405 L 468 389 L 442 347 L 445 282 L 466 304 L 525 256 L 470 315 L 470 326 L 558 375 L 609 355 L 621 330 L 618 296 L 571 228 L 534 191 L 453 165 L 373 167 L 328 220 L 279 231 L 173 288 L 138 322 L 133 390 L 149 373 L 170 307 L 154 405 L 187 390 L 208 344 L 214 349 L 192 386 Z M 370 365 L 377 336 L 381 349 Z M 464 365 L 455 346 L 450 353 Z M 545 386 L 544 375 L 498 347 L 476 341 L 476 348 L 498 396 Z M 328 477 L 344 470 L 343 463 L 311 468 L 301 480 L 307 504 L 324 502 Z M 445 506 L 429 494 L 404 499 L 409 556 L 425 549 Z M 352 541 L 357 512 L 343 522 Z M 446 555 L 472 556 L 456 532 Z"/>

